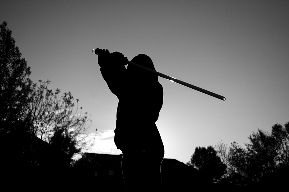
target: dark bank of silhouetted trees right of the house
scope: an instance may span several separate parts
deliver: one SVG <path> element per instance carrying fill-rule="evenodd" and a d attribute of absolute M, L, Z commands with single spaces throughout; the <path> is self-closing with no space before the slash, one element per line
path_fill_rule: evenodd
<path fill-rule="evenodd" d="M 275 124 L 270 133 L 258 129 L 242 148 L 197 147 L 188 166 L 198 170 L 201 183 L 214 187 L 281 187 L 289 181 L 289 122 Z"/>

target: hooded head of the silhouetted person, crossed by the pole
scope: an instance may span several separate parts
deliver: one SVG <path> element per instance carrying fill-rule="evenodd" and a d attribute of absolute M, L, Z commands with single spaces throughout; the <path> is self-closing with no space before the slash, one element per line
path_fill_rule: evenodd
<path fill-rule="evenodd" d="M 139 54 L 138 56 L 135 56 L 131 60 L 131 62 L 155 71 L 155 67 L 153 66 L 153 61 L 151 60 L 151 58 L 149 58 L 149 56 L 145 54 Z M 149 71 L 146 71 L 134 65 L 129 64 L 127 66 L 127 73 L 131 80 L 138 81 L 139 83 L 158 82 L 157 75 L 152 74 Z"/>

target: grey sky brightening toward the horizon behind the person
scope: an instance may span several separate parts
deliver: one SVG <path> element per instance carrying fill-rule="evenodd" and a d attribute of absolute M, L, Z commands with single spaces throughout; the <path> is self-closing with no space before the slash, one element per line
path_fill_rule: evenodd
<path fill-rule="evenodd" d="M 243 145 L 257 128 L 289 121 L 289 1 L 1 0 L 0 6 L 0 22 L 8 22 L 31 79 L 71 91 L 92 115 L 91 152 L 121 153 L 113 142 L 118 99 L 93 48 L 129 60 L 147 54 L 157 71 L 227 98 L 159 77 L 164 102 L 156 125 L 165 158 L 186 163 L 198 146 Z"/>

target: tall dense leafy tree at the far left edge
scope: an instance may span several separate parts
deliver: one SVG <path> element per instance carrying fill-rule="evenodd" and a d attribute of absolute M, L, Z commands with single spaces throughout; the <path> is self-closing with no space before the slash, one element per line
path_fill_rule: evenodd
<path fill-rule="evenodd" d="M 23 120 L 32 81 L 29 79 L 30 67 L 27 67 L 25 59 L 21 58 L 7 22 L 3 22 L 0 29 L 0 133 L 5 134 L 12 131 L 11 124 Z"/>

